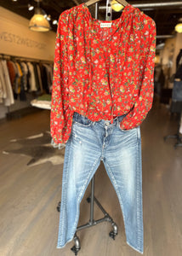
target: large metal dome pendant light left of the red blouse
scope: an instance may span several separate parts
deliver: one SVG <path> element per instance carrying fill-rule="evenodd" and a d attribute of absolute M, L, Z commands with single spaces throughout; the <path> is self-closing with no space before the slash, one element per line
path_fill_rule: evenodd
<path fill-rule="evenodd" d="M 37 2 L 35 8 L 35 14 L 30 20 L 29 28 L 35 32 L 48 32 L 51 27 L 48 20 L 44 17 L 43 9 L 40 8 L 40 2 L 42 0 L 34 0 Z"/>

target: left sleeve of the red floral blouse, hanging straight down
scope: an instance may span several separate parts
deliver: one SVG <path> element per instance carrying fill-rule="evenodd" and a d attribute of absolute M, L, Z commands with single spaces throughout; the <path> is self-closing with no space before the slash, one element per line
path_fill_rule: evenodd
<path fill-rule="evenodd" d="M 68 29 L 65 12 L 60 15 L 55 40 L 54 77 L 50 113 L 50 131 L 54 144 L 65 143 L 67 140 L 68 119 L 70 118 L 68 101 L 68 56 L 66 40 Z"/>

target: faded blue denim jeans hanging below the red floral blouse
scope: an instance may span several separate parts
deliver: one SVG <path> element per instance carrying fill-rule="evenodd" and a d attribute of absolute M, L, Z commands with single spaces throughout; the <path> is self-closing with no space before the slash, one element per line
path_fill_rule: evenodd
<path fill-rule="evenodd" d="M 125 116 L 118 116 L 111 124 L 74 113 L 71 136 L 65 144 L 57 248 L 73 239 L 80 202 L 103 160 L 122 209 L 127 243 L 143 254 L 140 127 L 123 131 L 120 122 Z"/>

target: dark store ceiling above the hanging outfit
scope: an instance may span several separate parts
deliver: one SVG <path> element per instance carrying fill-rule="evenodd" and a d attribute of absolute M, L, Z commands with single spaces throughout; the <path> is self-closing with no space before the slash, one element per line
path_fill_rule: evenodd
<path fill-rule="evenodd" d="M 62 13 L 65 9 L 70 9 L 71 7 L 87 2 L 88 0 L 43 0 L 41 2 L 41 7 L 44 11 L 51 15 L 51 23 L 52 21 L 58 20 L 60 13 Z M 34 14 L 34 10 L 28 10 L 28 3 L 31 3 L 34 6 L 37 6 L 37 2 L 35 0 L 17 0 L 14 2 L 13 0 L 0 0 L 0 5 L 6 9 L 13 11 L 14 13 L 26 17 L 27 19 L 31 19 L 31 16 Z M 106 0 L 100 1 L 100 6 L 105 5 Z M 138 3 L 173 3 L 172 6 L 164 7 L 139 7 L 146 15 L 151 16 L 153 20 L 156 21 L 156 35 L 157 35 L 157 44 L 163 43 L 165 39 L 160 38 L 162 35 L 174 35 L 174 26 L 178 23 L 180 17 L 182 17 L 182 1 L 128 1 L 130 4 L 138 4 Z M 181 3 L 180 6 L 175 6 L 174 3 Z M 89 7 L 90 12 L 94 17 L 94 5 Z M 105 20 L 105 9 L 100 9 L 100 20 Z M 112 20 L 117 19 L 121 13 L 113 12 Z M 56 32 L 57 26 L 52 25 L 52 29 Z"/>

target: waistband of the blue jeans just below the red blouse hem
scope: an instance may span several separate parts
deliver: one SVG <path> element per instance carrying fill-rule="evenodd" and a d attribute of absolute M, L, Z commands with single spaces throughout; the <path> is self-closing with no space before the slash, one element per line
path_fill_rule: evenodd
<path fill-rule="evenodd" d="M 111 120 L 104 120 L 101 119 L 100 121 L 92 121 L 88 119 L 87 117 L 83 116 L 80 113 L 74 112 L 73 114 L 73 120 L 75 120 L 78 123 L 81 123 L 82 125 L 90 125 L 91 123 L 100 123 L 101 125 L 117 125 L 122 121 L 122 119 L 127 115 L 127 113 L 117 116 L 115 119 L 113 119 L 113 124 L 111 124 Z"/>

